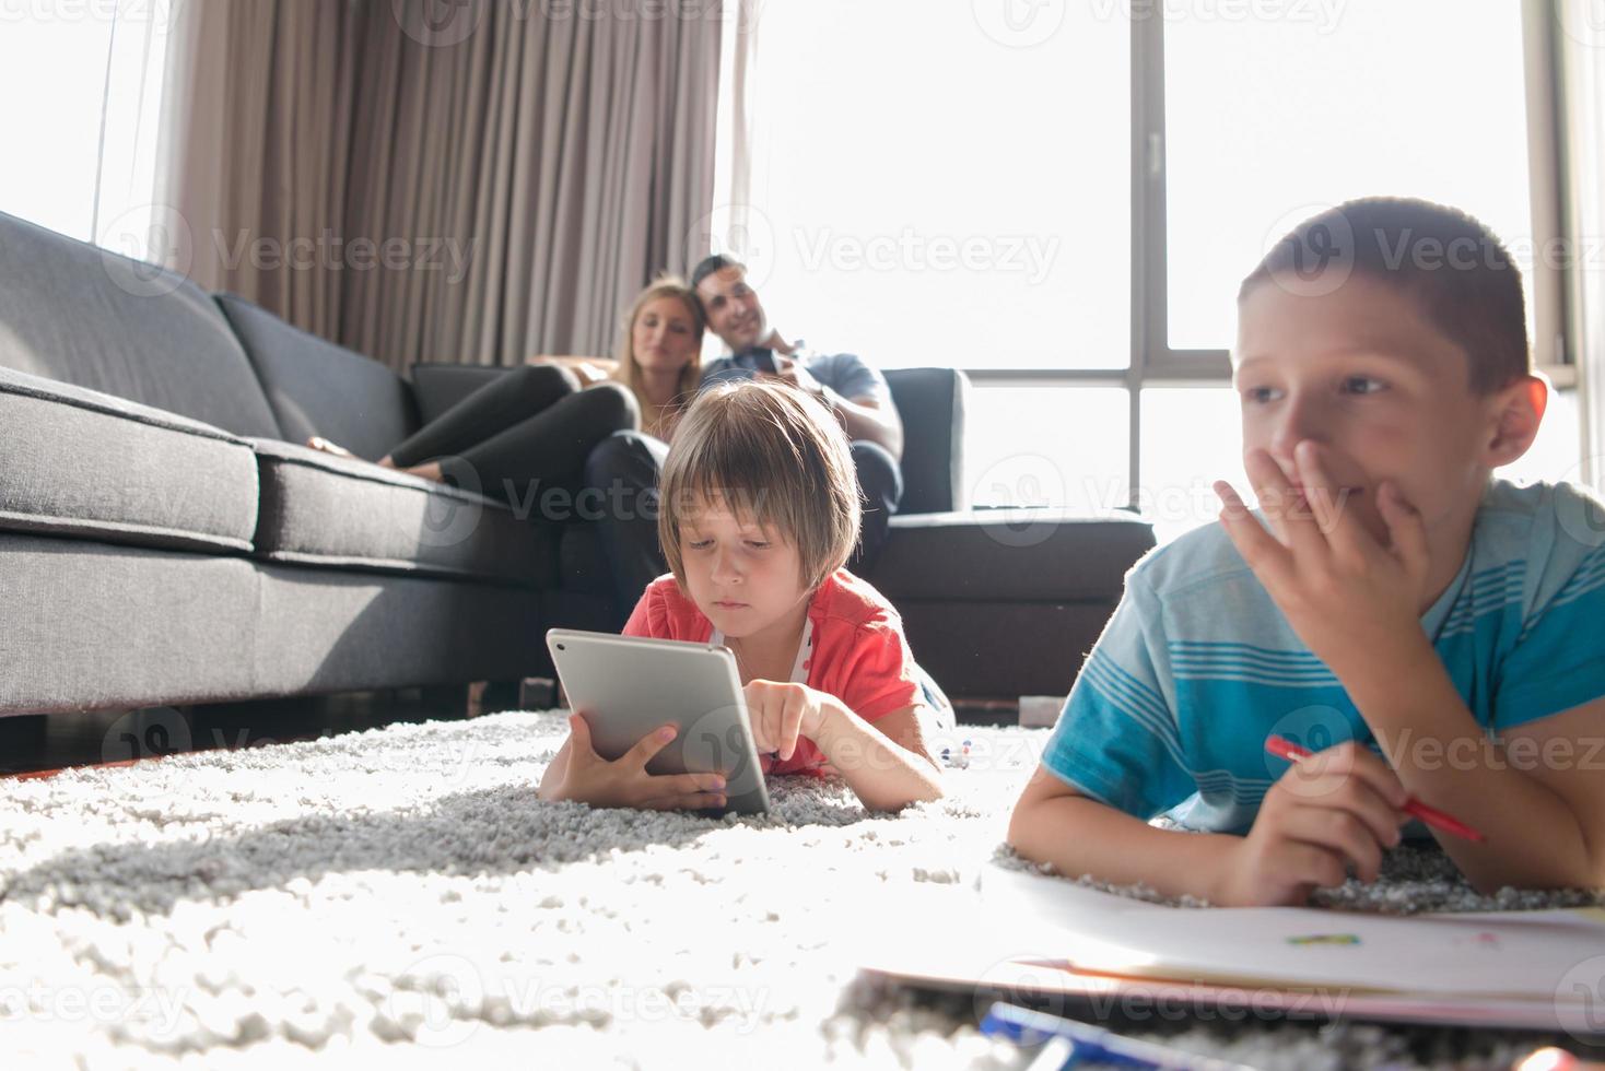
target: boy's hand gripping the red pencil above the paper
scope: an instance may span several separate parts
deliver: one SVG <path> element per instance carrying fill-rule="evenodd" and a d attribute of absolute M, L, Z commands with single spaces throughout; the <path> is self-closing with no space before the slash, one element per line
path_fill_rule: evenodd
<path fill-rule="evenodd" d="M 1342 885 L 1348 869 L 1377 880 L 1382 851 L 1400 842 L 1409 794 L 1398 774 L 1355 744 L 1329 747 L 1271 786 L 1254 829 L 1228 856 L 1221 906 L 1302 904 L 1311 890 Z"/>

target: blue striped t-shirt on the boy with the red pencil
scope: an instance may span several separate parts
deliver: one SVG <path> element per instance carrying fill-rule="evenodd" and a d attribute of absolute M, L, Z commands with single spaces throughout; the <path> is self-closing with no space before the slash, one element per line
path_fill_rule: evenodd
<path fill-rule="evenodd" d="M 1605 507 L 1570 484 L 1491 483 L 1459 574 L 1422 616 L 1485 729 L 1605 696 Z M 1298 640 L 1225 527 L 1151 552 L 1125 579 L 1043 765 L 1136 818 L 1247 832 L 1287 763 L 1375 747 L 1347 691 Z"/>

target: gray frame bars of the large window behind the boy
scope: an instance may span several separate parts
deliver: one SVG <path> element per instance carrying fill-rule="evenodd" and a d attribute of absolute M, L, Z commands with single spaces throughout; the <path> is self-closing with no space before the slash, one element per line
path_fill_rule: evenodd
<path fill-rule="evenodd" d="M 1534 249 L 1570 234 L 1558 120 L 1562 72 L 1555 40 L 1557 0 L 1522 0 L 1522 71 L 1526 85 L 1530 218 Z M 1132 19 L 1132 351 L 1127 367 L 1107 369 L 965 369 L 985 386 L 1124 386 L 1130 409 L 1127 479 L 1132 507 L 1141 495 L 1143 390 L 1148 386 L 1229 386 L 1228 350 L 1170 346 L 1170 265 L 1165 255 L 1165 19 L 1157 8 Z M 1533 303 L 1533 364 L 1558 390 L 1576 390 L 1576 332 L 1568 330 L 1578 303 L 1578 265 L 1534 257 L 1528 300 Z M 1581 449 L 1581 444 L 1579 444 Z"/>

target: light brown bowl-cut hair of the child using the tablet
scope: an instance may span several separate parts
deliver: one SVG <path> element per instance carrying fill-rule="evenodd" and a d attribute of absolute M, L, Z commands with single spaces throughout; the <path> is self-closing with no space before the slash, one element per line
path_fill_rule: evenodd
<path fill-rule="evenodd" d="M 721 383 L 681 418 L 660 483 L 658 540 L 685 587 L 681 524 L 722 502 L 791 540 L 815 590 L 859 539 L 859 478 L 841 423 L 782 383 Z"/>

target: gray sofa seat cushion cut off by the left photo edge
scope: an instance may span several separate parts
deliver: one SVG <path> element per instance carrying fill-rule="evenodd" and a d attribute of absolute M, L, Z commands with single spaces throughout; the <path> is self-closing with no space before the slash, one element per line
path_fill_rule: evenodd
<path fill-rule="evenodd" d="M 0 369 L 0 527 L 250 550 L 257 463 L 242 439 L 10 369 Z"/>

